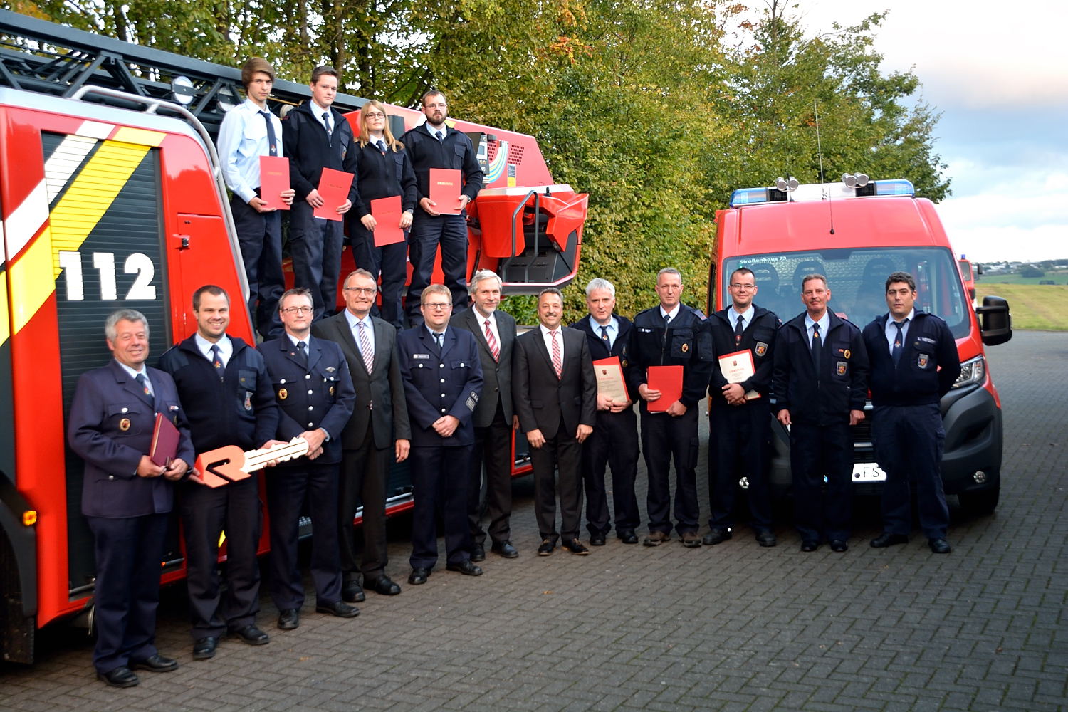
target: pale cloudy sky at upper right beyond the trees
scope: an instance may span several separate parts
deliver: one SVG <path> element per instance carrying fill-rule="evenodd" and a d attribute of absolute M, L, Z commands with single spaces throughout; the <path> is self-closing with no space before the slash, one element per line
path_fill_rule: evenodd
<path fill-rule="evenodd" d="M 890 10 L 876 49 L 885 72 L 915 72 L 923 100 L 942 112 L 934 147 L 948 164 L 953 195 L 939 215 L 958 253 L 980 263 L 1068 258 L 1063 2 L 1025 0 L 987 11 L 944 0 L 796 4 L 810 34 Z"/>

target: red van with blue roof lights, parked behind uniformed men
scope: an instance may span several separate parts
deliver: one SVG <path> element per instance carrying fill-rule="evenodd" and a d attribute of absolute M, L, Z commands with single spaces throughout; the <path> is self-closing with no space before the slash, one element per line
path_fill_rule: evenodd
<path fill-rule="evenodd" d="M 915 197 L 910 181 L 843 178 L 816 185 L 780 179 L 774 187 L 734 191 L 731 207 L 716 216 L 708 307 L 729 304 L 731 273 L 748 267 L 756 278 L 756 303 L 786 321 L 804 311 L 801 279 L 815 272 L 828 279 L 830 307 L 863 328 L 886 312 L 886 276 L 911 273 L 916 305 L 945 319 L 960 355 L 960 377 L 942 398 L 945 491 L 975 513 L 993 511 L 1001 487 L 1002 412 L 984 346 L 1011 338 L 1008 302 L 984 297 L 983 306 L 973 308 L 934 206 Z M 770 481 L 786 493 L 789 436 L 779 421 L 771 422 Z M 857 491 L 876 492 L 886 475 L 875 462 L 869 421 L 852 432 Z"/>

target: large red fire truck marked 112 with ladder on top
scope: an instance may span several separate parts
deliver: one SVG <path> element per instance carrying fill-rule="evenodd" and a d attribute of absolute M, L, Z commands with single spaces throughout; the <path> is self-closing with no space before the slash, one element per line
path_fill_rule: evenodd
<path fill-rule="evenodd" d="M 248 294 L 213 144 L 239 86 L 232 67 L 0 11 L 3 660 L 32 662 L 37 628 L 92 605 L 82 463 L 64 423 L 78 376 L 108 358 L 105 317 L 120 306 L 143 313 L 158 357 L 195 329 L 197 287 Z M 278 81 L 271 108 L 309 96 L 304 84 Z M 364 102 L 339 95 L 335 107 L 355 112 Z M 419 117 L 389 113 L 396 135 Z M 469 269 L 496 270 L 512 294 L 570 282 L 587 196 L 553 184 L 533 137 L 455 126 L 486 171 Z M 232 317 L 231 331 L 252 339 L 248 311 Z M 390 492 L 391 511 L 410 506 L 406 472 L 391 474 Z M 164 581 L 184 574 L 176 528 Z"/>

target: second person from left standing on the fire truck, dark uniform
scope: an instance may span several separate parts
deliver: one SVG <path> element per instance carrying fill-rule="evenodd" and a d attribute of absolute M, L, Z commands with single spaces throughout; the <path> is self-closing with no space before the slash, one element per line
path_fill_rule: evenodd
<path fill-rule="evenodd" d="M 289 210 L 289 252 L 296 286 L 311 289 L 315 318 L 330 316 L 337 305 L 341 273 L 342 222 L 316 218 L 321 207 L 318 185 L 323 169 L 356 173 L 357 148 L 352 127 L 336 109 L 337 70 L 319 66 L 309 83 L 312 97 L 290 111 L 282 122 L 282 143 L 289 157 L 289 185 L 296 199 Z M 356 181 L 345 202 L 337 207 L 344 215 L 356 200 Z"/>

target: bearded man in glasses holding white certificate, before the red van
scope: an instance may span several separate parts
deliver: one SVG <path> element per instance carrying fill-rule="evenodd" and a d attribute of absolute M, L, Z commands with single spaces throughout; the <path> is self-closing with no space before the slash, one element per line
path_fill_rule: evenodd
<path fill-rule="evenodd" d="M 756 278 L 744 267 L 731 274 L 727 287 L 731 306 L 708 317 L 712 353 L 717 363 L 708 385 L 709 431 L 708 500 L 711 517 L 705 544 L 718 544 L 732 536 L 735 494 L 740 478 L 745 480 L 750 521 L 761 547 L 774 547 L 771 531 L 771 492 L 768 487 L 769 439 L 771 436 L 771 370 L 779 317 L 753 303 Z M 753 375 L 728 383 L 720 359 L 747 352 L 753 360 Z M 743 354 L 744 355 L 744 354 Z"/>

